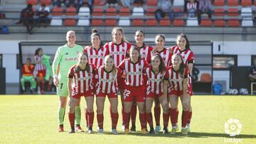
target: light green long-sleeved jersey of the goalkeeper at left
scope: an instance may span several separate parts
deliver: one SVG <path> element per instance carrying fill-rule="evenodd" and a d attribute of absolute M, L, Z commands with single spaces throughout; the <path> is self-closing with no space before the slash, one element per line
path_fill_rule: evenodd
<path fill-rule="evenodd" d="M 70 67 L 78 63 L 78 53 L 83 52 L 81 45 L 75 45 L 73 48 L 63 45 L 58 48 L 53 60 L 53 75 L 57 74 L 57 68 L 60 64 L 58 78 L 68 79 Z"/>

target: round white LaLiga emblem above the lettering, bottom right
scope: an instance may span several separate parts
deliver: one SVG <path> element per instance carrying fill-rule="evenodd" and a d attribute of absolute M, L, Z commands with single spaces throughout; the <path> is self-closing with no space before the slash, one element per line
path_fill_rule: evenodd
<path fill-rule="evenodd" d="M 238 119 L 230 118 L 225 122 L 225 133 L 230 136 L 239 135 L 242 131 L 242 124 Z"/>

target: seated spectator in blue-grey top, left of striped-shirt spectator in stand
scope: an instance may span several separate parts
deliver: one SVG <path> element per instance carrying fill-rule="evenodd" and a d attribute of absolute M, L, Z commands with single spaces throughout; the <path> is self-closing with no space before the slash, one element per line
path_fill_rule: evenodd
<path fill-rule="evenodd" d="M 170 20 L 174 19 L 174 13 L 172 11 L 172 5 L 171 0 L 159 0 L 157 2 L 157 10 L 156 10 L 156 19 L 158 21 L 161 20 L 161 18 L 164 18 L 166 14 L 169 16 Z"/>

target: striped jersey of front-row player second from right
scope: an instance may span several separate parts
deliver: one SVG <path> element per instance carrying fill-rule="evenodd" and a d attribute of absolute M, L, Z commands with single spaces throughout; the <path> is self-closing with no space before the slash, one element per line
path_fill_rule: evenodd
<path fill-rule="evenodd" d="M 145 67 L 144 72 L 147 77 L 146 94 L 149 94 L 149 92 L 154 94 L 163 93 L 164 75 L 166 72 L 159 72 L 158 74 L 155 74 L 152 67 Z"/>

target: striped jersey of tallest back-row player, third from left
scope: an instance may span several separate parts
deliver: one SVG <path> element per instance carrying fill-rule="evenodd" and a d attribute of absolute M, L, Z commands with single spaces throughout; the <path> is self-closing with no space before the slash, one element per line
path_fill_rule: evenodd
<path fill-rule="evenodd" d="M 114 56 L 114 64 L 118 66 L 129 55 L 131 44 L 122 42 L 120 45 L 116 45 L 114 42 L 109 42 L 104 45 L 104 48 L 109 50 L 110 55 Z"/>

